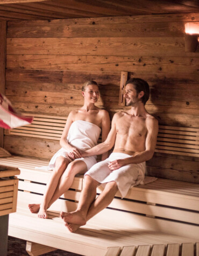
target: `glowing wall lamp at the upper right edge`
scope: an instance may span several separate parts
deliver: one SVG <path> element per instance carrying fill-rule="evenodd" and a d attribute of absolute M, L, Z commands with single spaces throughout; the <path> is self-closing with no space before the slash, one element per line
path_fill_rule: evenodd
<path fill-rule="evenodd" d="M 185 24 L 185 51 L 195 52 L 199 39 L 199 22 L 188 22 Z"/>

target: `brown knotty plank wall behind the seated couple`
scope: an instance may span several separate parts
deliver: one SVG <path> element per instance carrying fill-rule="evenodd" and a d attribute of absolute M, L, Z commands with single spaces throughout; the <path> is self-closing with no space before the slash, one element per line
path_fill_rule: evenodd
<path fill-rule="evenodd" d="M 102 85 L 98 106 L 112 116 L 123 109 L 120 72 L 127 71 L 150 84 L 146 108 L 159 124 L 199 127 L 199 55 L 184 51 L 184 23 L 198 19 L 187 13 L 8 22 L 6 96 L 23 112 L 65 116 L 82 106 L 80 88 L 93 79 Z M 59 144 L 5 136 L 4 147 L 51 157 Z M 197 164 L 196 157 L 157 153 L 147 172 L 198 182 Z"/>

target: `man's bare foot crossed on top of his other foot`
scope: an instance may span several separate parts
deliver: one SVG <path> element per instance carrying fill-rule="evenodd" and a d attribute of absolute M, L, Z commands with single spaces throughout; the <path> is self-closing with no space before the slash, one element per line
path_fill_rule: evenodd
<path fill-rule="evenodd" d="M 86 224 L 86 218 L 84 218 L 80 211 L 75 212 L 61 212 L 60 217 L 63 219 L 64 222 L 77 224 L 83 226 Z"/>

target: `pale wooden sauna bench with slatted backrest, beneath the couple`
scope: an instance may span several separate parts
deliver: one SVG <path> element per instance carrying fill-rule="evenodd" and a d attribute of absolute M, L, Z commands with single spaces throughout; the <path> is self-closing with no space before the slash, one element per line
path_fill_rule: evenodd
<path fill-rule="evenodd" d="M 65 117 L 37 115 L 33 124 L 10 133 L 59 140 L 65 122 Z M 186 136 L 186 140 L 181 136 Z M 156 150 L 196 156 L 197 144 L 198 129 L 160 127 Z M 41 201 L 51 171 L 35 167 L 47 165 L 48 161 L 11 156 L 0 158 L 0 164 L 20 169 L 17 212 L 10 216 L 9 235 L 27 240 L 30 255 L 56 248 L 92 256 L 191 256 L 199 253 L 199 184 L 159 178 L 130 189 L 124 199 L 118 192 L 108 208 L 76 233 L 70 233 L 59 213 L 76 209 L 83 176 L 76 176 L 70 190 L 49 208 L 48 219 L 39 219 L 30 213 L 27 205 Z M 99 187 L 97 192 L 101 191 Z"/>

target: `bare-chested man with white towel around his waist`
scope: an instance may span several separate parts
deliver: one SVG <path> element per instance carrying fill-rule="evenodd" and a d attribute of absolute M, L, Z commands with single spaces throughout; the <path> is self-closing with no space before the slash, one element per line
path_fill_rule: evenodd
<path fill-rule="evenodd" d="M 118 190 L 123 198 L 132 185 L 143 183 L 145 161 L 152 158 L 158 135 L 158 121 L 145 109 L 149 95 L 146 81 L 128 80 L 124 98 L 131 109 L 113 116 L 110 133 L 103 143 L 82 152 L 82 156 L 100 155 L 115 144 L 109 158 L 86 172 L 77 210 L 61 212 L 70 232 L 107 207 Z M 96 198 L 96 188 L 102 183 L 105 188 Z"/>

